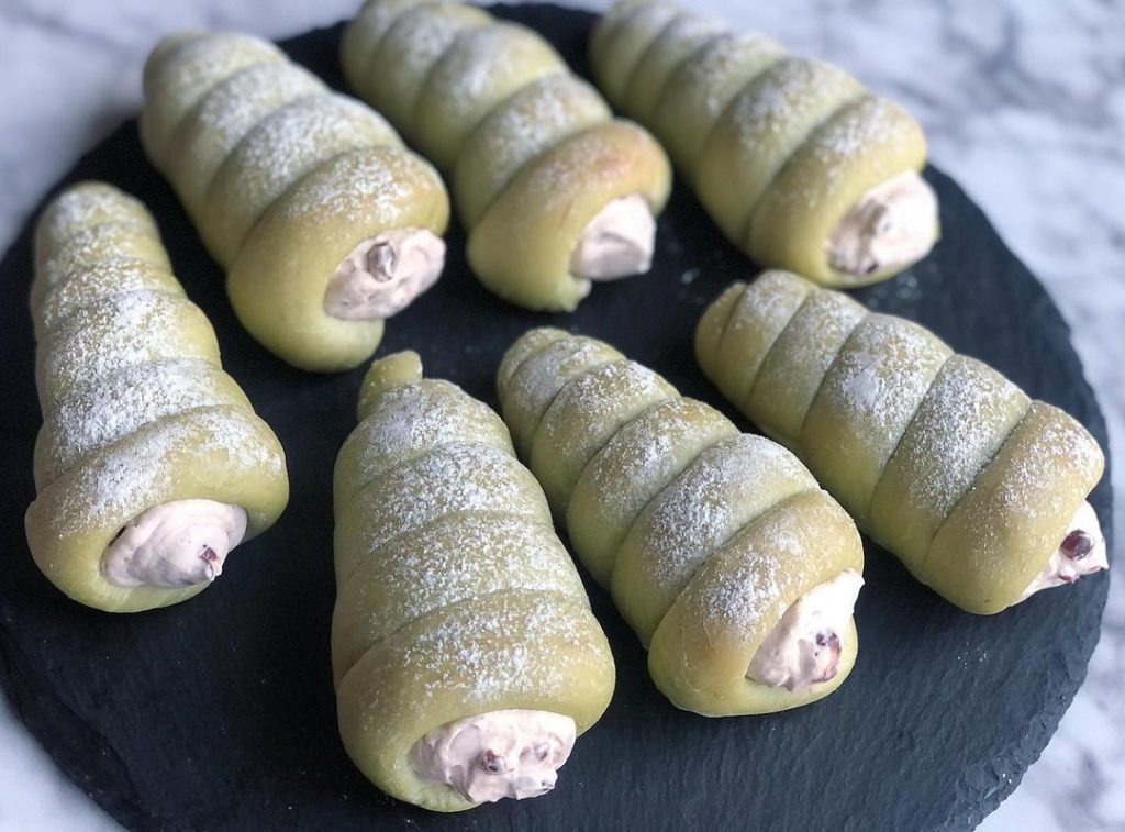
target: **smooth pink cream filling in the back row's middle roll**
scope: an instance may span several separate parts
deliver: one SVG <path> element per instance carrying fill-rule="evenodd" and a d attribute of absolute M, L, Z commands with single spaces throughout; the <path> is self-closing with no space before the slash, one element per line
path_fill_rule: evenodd
<path fill-rule="evenodd" d="M 640 194 L 619 197 L 586 223 L 570 253 L 570 272 L 590 280 L 616 280 L 652 267 L 656 218 Z"/>

